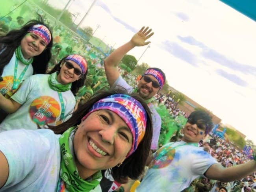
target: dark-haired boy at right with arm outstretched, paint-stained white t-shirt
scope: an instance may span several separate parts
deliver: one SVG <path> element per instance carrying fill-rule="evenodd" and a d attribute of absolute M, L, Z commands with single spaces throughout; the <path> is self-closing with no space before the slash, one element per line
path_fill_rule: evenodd
<path fill-rule="evenodd" d="M 182 191 L 199 176 L 229 182 L 255 172 L 256 156 L 248 163 L 224 168 L 198 147 L 212 125 L 211 117 L 204 111 L 192 112 L 184 126 L 182 140 L 165 144 L 152 155 L 149 169 L 136 192 Z"/>

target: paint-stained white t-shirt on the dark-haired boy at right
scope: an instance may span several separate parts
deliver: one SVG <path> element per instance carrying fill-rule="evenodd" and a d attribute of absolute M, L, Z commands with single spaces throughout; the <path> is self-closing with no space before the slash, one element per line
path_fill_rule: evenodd
<path fill-rule="evenodd" d="M 136 192 L 182 191 L 217 163 L 202 148 L 184 141 L 171 142 L 153 154 L 153 160 Z"/>

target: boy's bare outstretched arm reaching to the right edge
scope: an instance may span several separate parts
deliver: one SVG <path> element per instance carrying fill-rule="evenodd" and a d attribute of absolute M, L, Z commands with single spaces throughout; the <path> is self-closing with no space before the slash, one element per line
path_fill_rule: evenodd
<path fill-rule="evenodd" d="M 250 162 L 232 166 L 229 168 L 224 168 L 220 164 L 213 164 L 204 173 L 209 179 L 215 179 L 223 182 L 230 182 L 239 180 L 241 178 L 247 177 L 256 171 L 256 161 L 252 160 Z"/>

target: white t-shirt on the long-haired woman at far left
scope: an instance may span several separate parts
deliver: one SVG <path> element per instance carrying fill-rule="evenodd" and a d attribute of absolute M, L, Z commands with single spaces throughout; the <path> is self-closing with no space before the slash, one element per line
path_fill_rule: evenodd
<path fill-rule="evenodd" d="M 13 57 L 11 57 L 10 62 L 4 66 L 4 70 L 2 73 L 2 78 L 4 81 L 0 82 L 0 92 L 5 95 L 8 90 L 11 90 L 13 87 L 13 76 L 14 76 L 14 68 L 15 68 L 15 61 L 16 61 L 16 55 L 15 52 L 13 53 Z M 18 68 L 17 68 L 17 78 L 19 78 L 20 74 L 24 70 L 26 65 L 21 63 L 18 60 Z M 29 76 L 32 76 L 33 74 L 33 66 L 30 64 L 21 80 L 24 80 L 28 78 Z"/>

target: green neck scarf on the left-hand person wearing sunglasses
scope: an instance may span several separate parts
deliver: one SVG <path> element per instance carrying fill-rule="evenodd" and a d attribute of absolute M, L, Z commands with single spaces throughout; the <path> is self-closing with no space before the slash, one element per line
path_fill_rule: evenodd
<path fill-rule="evenodd" d="M 48 84 L 49 84 L 50 88 L 52 90 L 56 90 L 59 92 L 64 92 L 64 91 L 70 90 L 72 83 L 68 83 L 66 85 L 60 84 L 57 81 L 57 75 L 58 75 L 58 72 L 54 72 L 54 73 L 50 74 L 50 76 L 48 78 Z"/>

